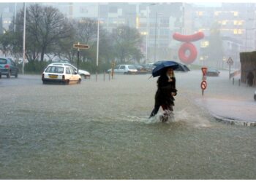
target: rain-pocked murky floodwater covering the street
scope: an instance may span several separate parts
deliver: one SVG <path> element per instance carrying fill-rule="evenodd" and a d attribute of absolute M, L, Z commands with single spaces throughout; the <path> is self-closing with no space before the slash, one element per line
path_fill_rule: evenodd
<path fill-rule="evenodd" d="M 225 76 L 208 78 L 205 97 L 250 99 L 253 88 Z M 195 105 L 200 71 L 176 74 L 175 116 L 167 123 L 148 119 L 157 90 L 148 77 L 104 82 L 99 75 L 73 85 L 0 79 L 0 178 L 256 178 L 256 127 L 219 123 Z"/>

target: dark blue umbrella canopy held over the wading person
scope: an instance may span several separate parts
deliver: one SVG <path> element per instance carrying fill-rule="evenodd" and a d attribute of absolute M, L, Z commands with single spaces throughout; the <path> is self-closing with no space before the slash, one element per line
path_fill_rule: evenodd
<path fill-rule="evenodd" d="M 156 66 L 156 68 L 154 68 L 152 71 L 153 77 L 160 76 L 161 74 L 165 73 L 165 71 L 167 71 L 167 68 L 173 68 L 173 70 L 176 70 L 180 66 L 179 63 L 173 60 L 157 62 L 154 65 Z"/>

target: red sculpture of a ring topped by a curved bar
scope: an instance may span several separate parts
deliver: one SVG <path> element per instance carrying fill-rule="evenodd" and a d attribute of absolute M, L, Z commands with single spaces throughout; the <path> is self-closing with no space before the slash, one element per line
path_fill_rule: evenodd
<path fill-rule="evenodd" d="M 178 50 L 178 58 L 180 58 L 183 63 L 190 64 L 195 61 L 197 58 L 197 48 L 190 41 L 197 41 L 203 39 L 203 37 L 203 32 L 197 32 L 192 35 L 181 35 L 180 33 L 173 33 L 173 39 L 185 42 Z M 187 51 L 189 51 L 189 56 L 186 55 Z"/>

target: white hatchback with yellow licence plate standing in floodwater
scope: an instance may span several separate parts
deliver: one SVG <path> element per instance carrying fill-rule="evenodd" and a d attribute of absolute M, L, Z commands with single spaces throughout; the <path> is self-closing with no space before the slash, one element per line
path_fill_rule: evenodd
<path fill-rule="evenodd" d="M 70 66 L 49 65 L 42 73 L 42 83 L 48 82 L 72 84 L 81 82 L 81 76 Z"/>

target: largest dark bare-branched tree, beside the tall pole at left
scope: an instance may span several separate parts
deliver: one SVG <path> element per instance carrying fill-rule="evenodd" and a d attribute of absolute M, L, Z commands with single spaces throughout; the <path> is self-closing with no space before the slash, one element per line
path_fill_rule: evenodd
<path fill-rule="evenodd" d="M 18 13 L 17 29 L 23 31 L 23 10 Z M 29 60 L 44 60 L 46 53 L 61 39 L 71 36 L 71 25 L 59 9 L 33 4 L 26 9 L 26 55 Z"/>

